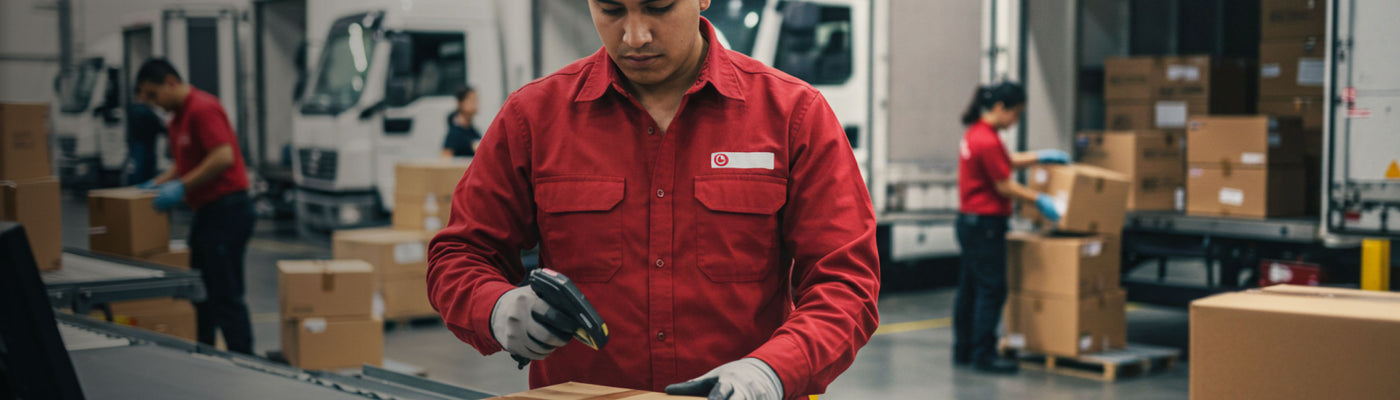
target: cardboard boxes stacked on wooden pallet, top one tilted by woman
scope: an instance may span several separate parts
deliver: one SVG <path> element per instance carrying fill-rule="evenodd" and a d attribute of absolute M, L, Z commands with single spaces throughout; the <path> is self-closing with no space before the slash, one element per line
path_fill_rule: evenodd
<path fill-rule="evenodd" d="M 1037 166 L 1030 187 L 1056 197 L 1049 234 L 1007 238 L 1007 345 L 1075 357 L 1127 345 L 1119 285 L 1128 179 L 1086 166 Z M 1033 207 L 1022 215 L 1039 220 Z"/>

